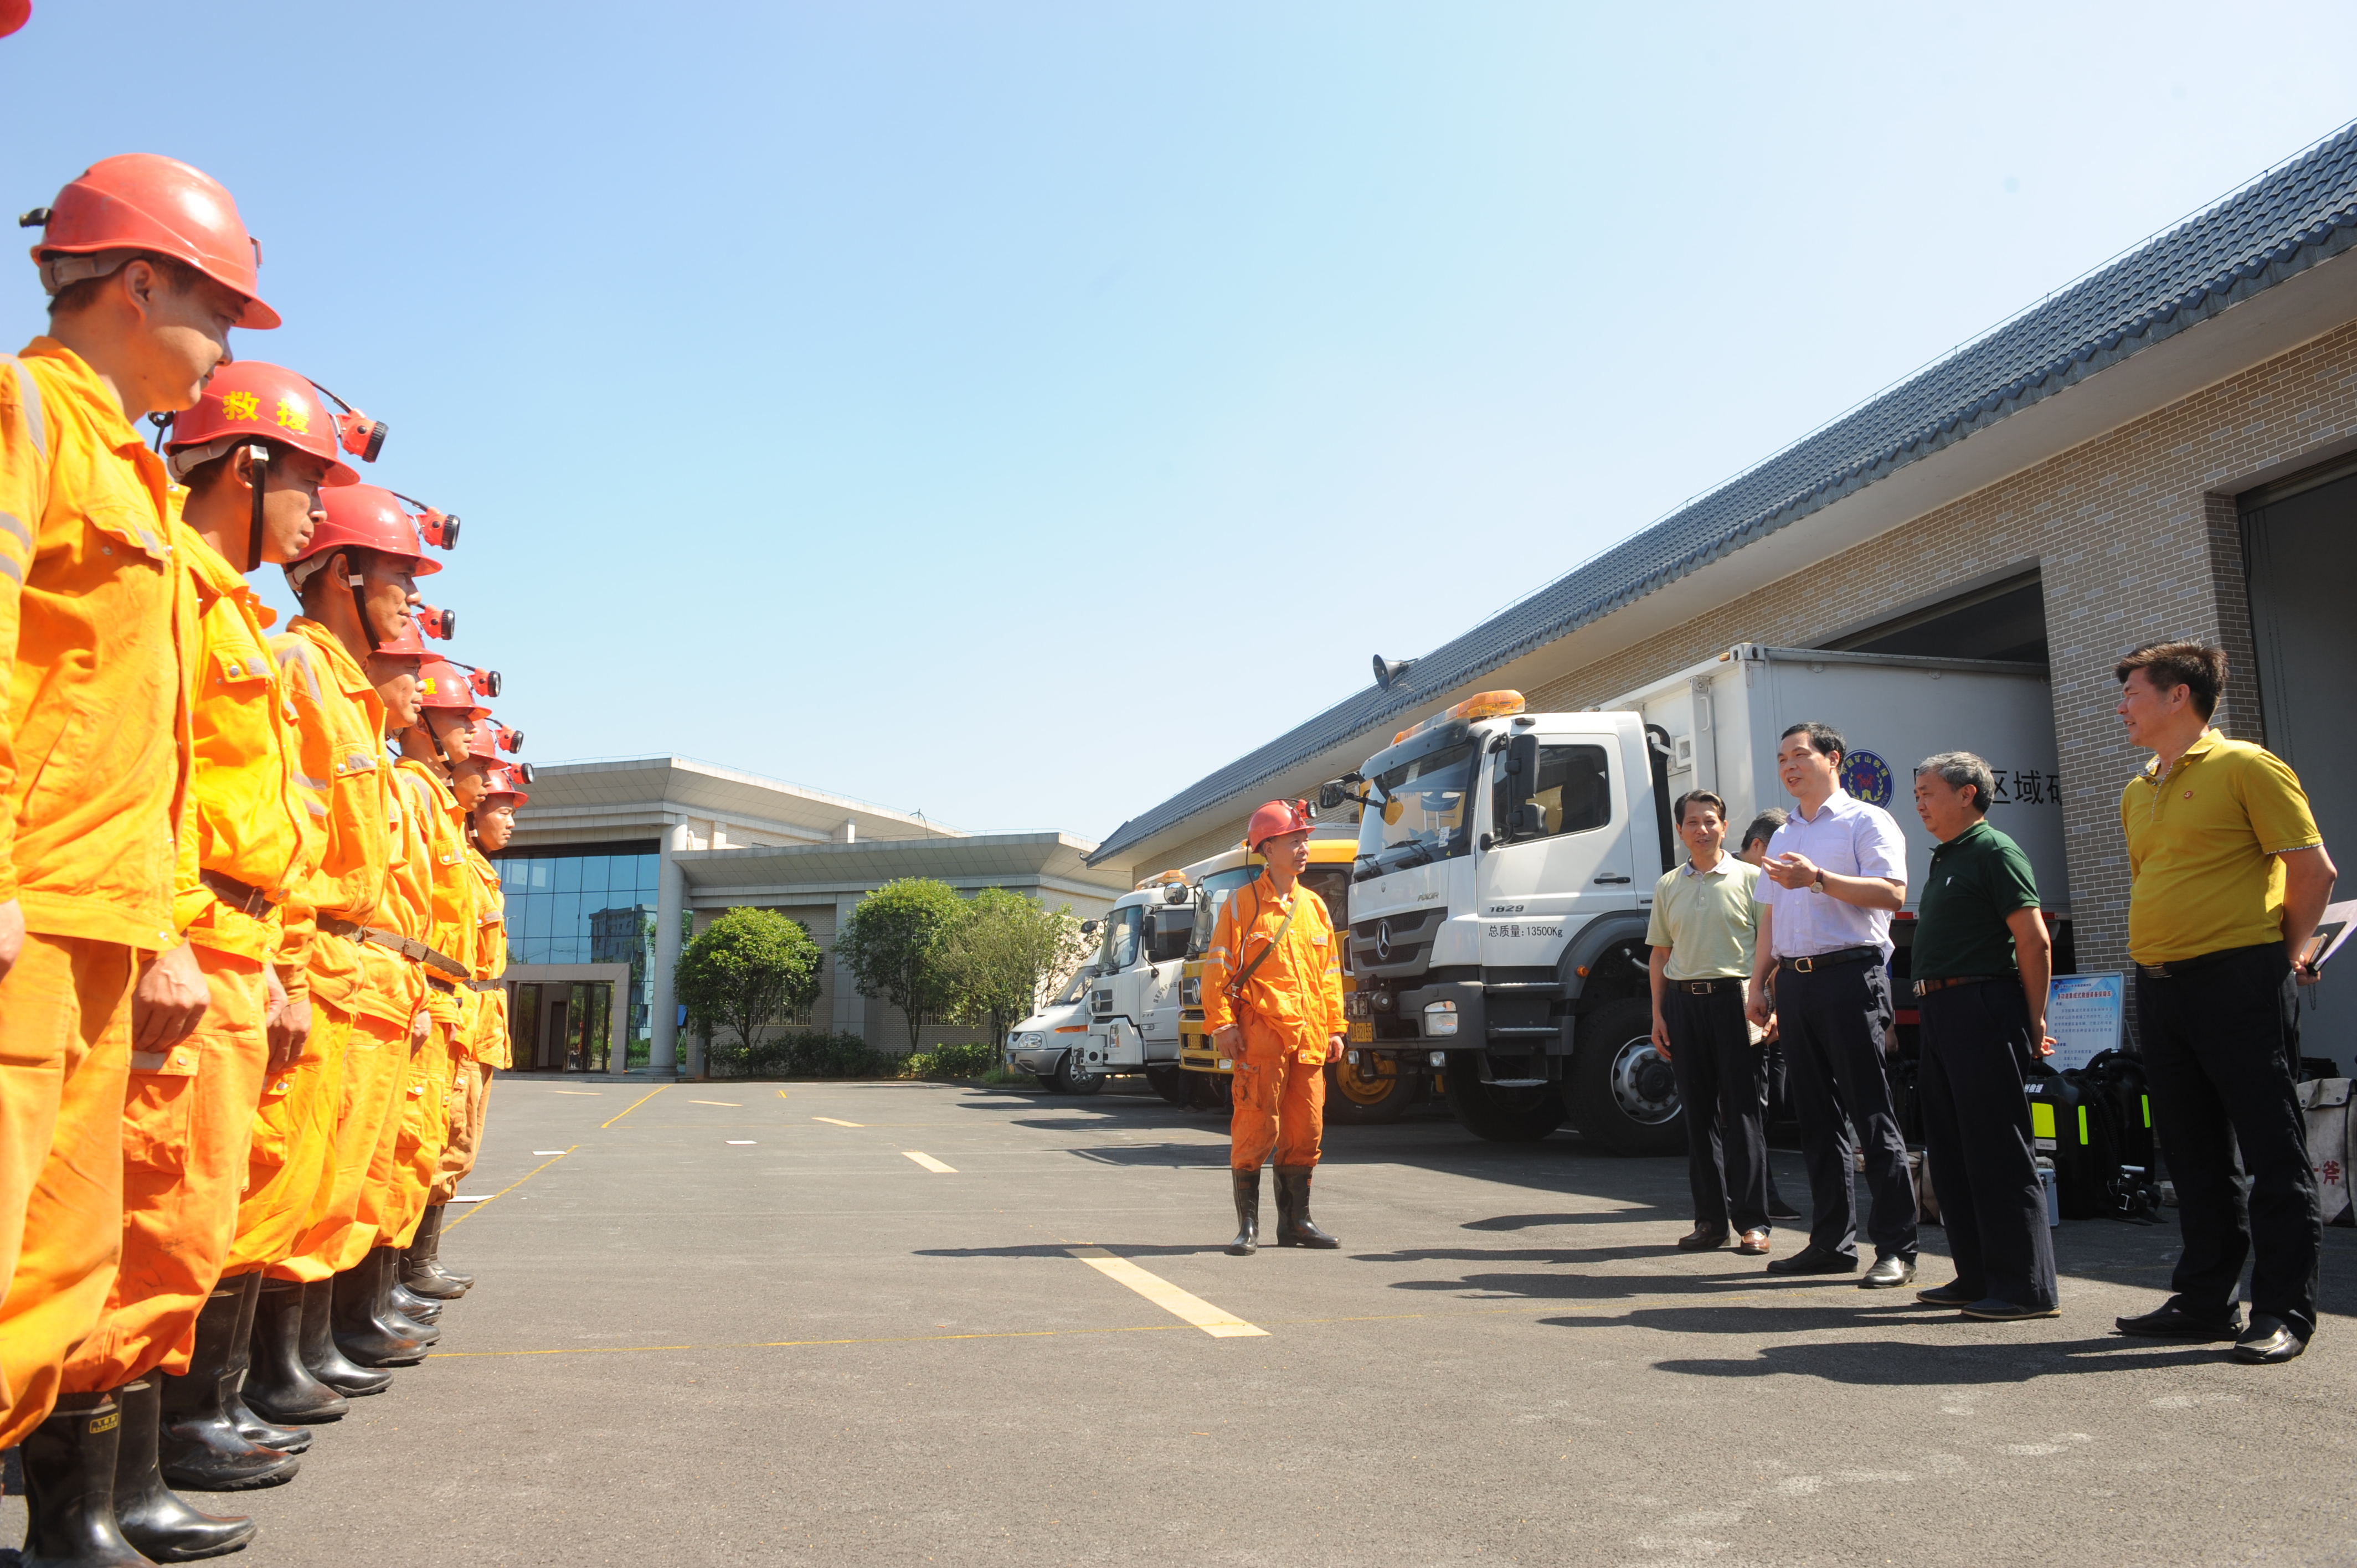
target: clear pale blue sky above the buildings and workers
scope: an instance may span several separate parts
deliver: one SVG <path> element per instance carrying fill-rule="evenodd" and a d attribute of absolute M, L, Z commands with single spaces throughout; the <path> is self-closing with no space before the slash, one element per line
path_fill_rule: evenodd
<path fill-rule="evenodd" d="M 35 0 L 0 172 L 236 191 L 533 759 L 1103 837 L 2357 113 L 2345 5 L 1761 9 Z"/>

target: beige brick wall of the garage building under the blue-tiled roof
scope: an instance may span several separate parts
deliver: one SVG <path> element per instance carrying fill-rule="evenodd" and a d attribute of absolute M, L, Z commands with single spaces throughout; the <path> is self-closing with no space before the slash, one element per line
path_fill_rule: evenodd
<path fill-rule="evenodd" d="M 2157 637 L 2218 641 L 2232 663 L 2218 726 L 2260 738 L 2234 490 L 2350 436 L 2357 323 L 1525 696 L 1534 710 L 1593 707 L 1735 641 L 1813 646 L 1879 608 L 2036 564 L 2079 964 L 2117 969 L 2128 957 L 2119 790 L 2145 757 L 2112 714 L 2112 665 Z"/>

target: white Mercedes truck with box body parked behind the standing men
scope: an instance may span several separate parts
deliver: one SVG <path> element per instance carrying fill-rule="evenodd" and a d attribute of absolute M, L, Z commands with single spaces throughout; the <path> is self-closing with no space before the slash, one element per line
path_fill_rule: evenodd
<path fill-rule="evenodd" d="M 1914 764 L 1987 759 L 1989 821 L 2067 915 L 2041 665 L 1737 644 L 1589 712 L 1525 712 L 1520 693 L 1487 691 L 1320 790 L 1327 809 L 1362 804 L 1348 1007 L 1353 1040 L 1372 1040 L 1353 1052 L 1445 1073 L 1450 1111 L 1487 1139 L 1539 1139 L 1570 1118 L 1622 1153 L 1683 1148 L 1645 974 L 1652 887 L 1683 858 L 1669 806 L 1721 795 L 1730 839 L 1761 809 L 1789 809 L 1777 740 L 1808 719 L 1843 733 L 1843 788 L 1897 818 L 1916 875 L 1933 839 Z M 1909 877 L 1902 941 L 1914 901 Z"/>

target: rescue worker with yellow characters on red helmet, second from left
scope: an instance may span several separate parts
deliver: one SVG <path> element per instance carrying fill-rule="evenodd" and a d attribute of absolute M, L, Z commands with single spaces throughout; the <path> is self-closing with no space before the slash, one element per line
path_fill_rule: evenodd
<path fill-rule="evenodd" d="M 210 1004 L 189 1040 L 132 1059 L 123 1106 L 123 1264 L 97 1332 L 66 1361 L 66 1394 L 123 1408 L 115 1523 L 163 1561 L 217 1556 L 255 1535 L 167 1483 L 266 1485 L 295 1474 L 276 1445 L 240 1436 L 224 1386 L 243 1372 L 250 1283 L 222 1285 L 247 1177 L 269 1056 L 302 1047 L 273 960 L 283 905 L 318 861 L 316 802 L 295 771 L 295 726 L 269 653 L 276 615 L 245 585 L 311 538 L 321 486 L 354 483 L 337 427 L 304 377 L 240 361 L 205 384 L 165 441 L 181 498 L 174 549 L 196 592 L 186 665 L 196 771 L 181 832 L 177 920 Z M 295 979 L 299 995 L 299 976 Z M 219 1287 L 217 1287 L 219 1285 Z M 299 1434 L 271 1436 L 297 1438 Z"/>

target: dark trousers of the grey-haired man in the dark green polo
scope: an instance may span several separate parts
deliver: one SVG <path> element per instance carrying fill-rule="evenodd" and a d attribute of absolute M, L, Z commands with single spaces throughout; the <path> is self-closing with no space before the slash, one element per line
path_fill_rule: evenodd
<path fill-rule="evenodd" d="M 1933 990 L 1919 1007 L 1923 1146 L 1956 1287 L 2015 1306 L 2053 1306 L 2055 1238 L 2046 1228 L 2029 1099 L 2039 1056 L 2022 981 Z"/>

